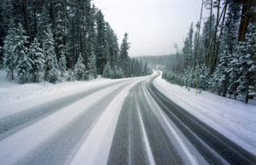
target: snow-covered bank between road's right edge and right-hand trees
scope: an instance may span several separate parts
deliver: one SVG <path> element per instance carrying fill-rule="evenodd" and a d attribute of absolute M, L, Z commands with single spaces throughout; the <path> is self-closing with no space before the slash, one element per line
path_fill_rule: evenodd
<path fill-rule="evenodd" d="M 154 85 L 171 100 L 219 133 L 256 155 L 256 105 L 180 87 L 157 77 Z"/>

